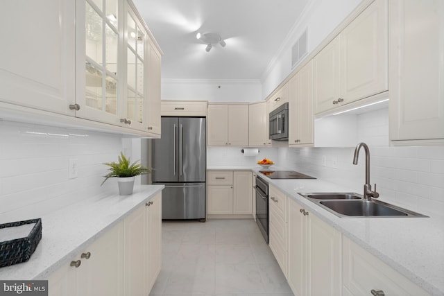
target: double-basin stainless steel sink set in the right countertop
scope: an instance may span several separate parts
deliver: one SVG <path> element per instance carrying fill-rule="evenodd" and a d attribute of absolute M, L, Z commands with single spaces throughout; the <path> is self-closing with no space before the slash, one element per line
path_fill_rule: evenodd
<path fill-rule="evenodd" d="M 367 201 L 357 193 L 298 193 L 340 218 L 427 217 L 379 200 Z"/>

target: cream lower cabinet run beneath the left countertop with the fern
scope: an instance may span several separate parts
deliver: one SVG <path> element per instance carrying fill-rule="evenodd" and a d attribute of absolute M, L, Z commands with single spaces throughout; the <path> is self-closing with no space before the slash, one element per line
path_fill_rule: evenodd
<path fill-rule="evenodd" d="M 148 295 L 162 263 L 162 193 L 49 276 L 50 296 Z"/>

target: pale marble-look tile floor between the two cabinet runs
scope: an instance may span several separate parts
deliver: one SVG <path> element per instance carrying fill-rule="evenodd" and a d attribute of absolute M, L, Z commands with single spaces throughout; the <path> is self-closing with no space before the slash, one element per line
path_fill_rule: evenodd
<path fill-rule="evenodd" d="M 254 220 L 162 223 L 162 270 L 151 296 L 292 296 Z"/>

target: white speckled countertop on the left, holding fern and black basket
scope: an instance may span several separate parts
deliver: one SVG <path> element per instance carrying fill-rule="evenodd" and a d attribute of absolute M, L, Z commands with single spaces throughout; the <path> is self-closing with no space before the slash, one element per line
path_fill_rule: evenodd
<path fill-rule="evenodd" d="M 0 279 L 47 279 L 96 238 L 162 191 L 163 185 L 136 185 L 132 195 L 103 192 L 42 216 L 42 240 L 24 263 L 0 268 Z"/>

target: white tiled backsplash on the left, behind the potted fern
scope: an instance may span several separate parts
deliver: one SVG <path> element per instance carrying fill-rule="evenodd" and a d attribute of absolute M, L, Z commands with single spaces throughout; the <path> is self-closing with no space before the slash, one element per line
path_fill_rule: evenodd
<path fill-rule="evenodd" d="M 9 121 L 0 121 L 0 139 L 0 223 L 37 218 L 114 186 L 117 191 L 115 178 L 100 186 L 103 162 L 117 161 L 121 150 L 139 151 L 116 134 Z M 75 179 L 69 179 L 69 159 L 78 160 Z"/>

